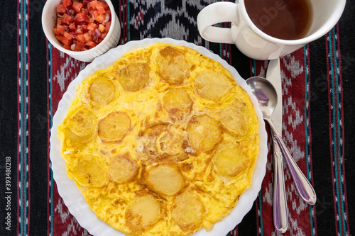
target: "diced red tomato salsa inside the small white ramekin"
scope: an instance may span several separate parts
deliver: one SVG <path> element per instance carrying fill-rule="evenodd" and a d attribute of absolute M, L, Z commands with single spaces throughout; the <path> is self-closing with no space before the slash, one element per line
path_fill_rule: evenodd
<path fill-rule="evenodd" d="M 110 26 L 111 11 L 104 1 L 62 0 L 53 32 L 65 49 L 84 51 L 101 43 Z"/>

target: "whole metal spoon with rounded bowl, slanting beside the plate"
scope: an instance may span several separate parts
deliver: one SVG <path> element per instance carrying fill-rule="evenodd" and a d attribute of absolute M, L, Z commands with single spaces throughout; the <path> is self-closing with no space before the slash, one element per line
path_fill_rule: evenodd
<path fill-rule="evenodd" d="M 278 103 L 278 96 L 276 94 L 275 88 L 270 82 L 268 82 L 267 79 L 264 79 L 263 77 L 252 77 L 247 79 L 246 83 L 251 88 L 251 91 L 256 96 L 256 99 L 258 99 L 258 104 L 261 108 L 261 112 L 263 113 L 263 118 L 269 123 L 270 128 L 273 131 L 273 136 L 277 140 L 278 145 L 280 145 L 280 149 L 283 152 L 283 156 L 286 159 L 288 167 L 290 168 L 290 172 L 293 176 L 293 180 L 295 181 L 295 186 L 298 193 L 300 193 L 301 198 L 306 203 L 315 205 L 315 202 L 317 201 L 315 190 L 305 175 L 301 172 L 300 168 L 297 166 L 295 160 L 283 142 L 280 133 L 278 133 L 278 130 L 275 129 L 273 121 L 271 120 L 273 109 Z"/>

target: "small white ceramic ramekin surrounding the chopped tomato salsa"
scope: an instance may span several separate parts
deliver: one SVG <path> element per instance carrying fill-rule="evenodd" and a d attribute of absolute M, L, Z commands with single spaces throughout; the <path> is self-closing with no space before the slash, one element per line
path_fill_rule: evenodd
<path fill-rule="evenodd" d="M 55 34 L 53 33 L 53 28 L 57 23 L 57 5 L 62 3 L 62 0 L 48 0 L 45 3 L 42 11 L 42 28 L 45 33 L 45 36 L 48 38 L 50 43 L 56 47 L 58 50 L 65 52 L 70 57 L 73 57 L 82 62 L 91 62 L 95 57 L 104 54 L 107 50 L 112 47 L 116 47 L 119 43 L 119 37 L 121 35 L 121 26 L 119 23 L 119 18 L 117 17 L 114 6 L 112 5 L 110 0 L 103 0 L 109 5 L 109 9 L 111 11 L 111 26 L 109 32 L 107 33 L 104 40 L 99 43 L 97 46 L 92 49 L 75 52 L 71 50 L 67 50 L 58 40 L 55 38 Z"/>

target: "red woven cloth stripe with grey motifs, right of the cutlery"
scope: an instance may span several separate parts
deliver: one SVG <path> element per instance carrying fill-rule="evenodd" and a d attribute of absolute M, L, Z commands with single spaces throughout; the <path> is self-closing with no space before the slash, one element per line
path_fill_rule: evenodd
<path fill-rule="evenodd" d="M 286 140 L 286 144 L 288 145 L 289 150 L 291 154 L 293 154 L 294 158 L 296 158 L 296 153 L 295 153 L 296 150 L 292 150 L 292 145 L 295 145 L 296 147 L 300 148 L 299 152 L 301 154 L 301 159 L 297 161 L 297 165 L 298 167 L 300 167 L 303 174 L 307 176 L 307 158 L 305 158 L 307 140 L 305 138 L 305 112 L 304 112 L 304 108 L 305 108 L 304 50 L 303 49 L 297 50 L 291 55 L 290 58 L 288 58 L 287 56 L 284 58 L 286 60 L 283 63 L 283 72 L 286 74 L 286 77 L 288 79 L 291 79 L 292 89 L 291 86 L 289 86 L 288 89 L 286 90 L 288 91 L 288 94 L 285 94 L 285 96 L 283 96 L 283 103 L 288 104 L 290 102 L 289 99 L 292 99 L 292 103 L 295 104 L 297 109 L 296 112 L 299 112 L 299 116 L 302 117 L 302 122 L 299 125 L 297 125 L 295 128 L 293 128 L 289 120 L 293 120 L 295 122 L 295 120 L 297 120 L 297 113 L 295 113 L 295 111 L 293 112 L 290 111 L 291 104 L 289 104 L 288 113 L 286 111 L 284 112 L 283 123 L 286 124 L 286 130 L 288 130 L 288 133 L 292 135 L 294 143 L 291 144 L 290 140 Z M 299 63 L 299 67 L 300 68 L 303 67 L 303 69 L 300 74 L 298 74 L 293 78 L 292 73 L 295 73 L 295 69 L 292 67 L 291 67 L 292 69 L 287 68 L 287 66 L 292 65 L 293 67 L 297 67 L 298 63 Z M 283 86 L 286 86 L 285 83 L 283 84 L 284 84 Z M 286 136 L 285 133 L 283 135 L 284 137 Z M 290 174 L 287 167 L 285 167 L 285 171 L 286 171 L 285 173 Z M 287 193 L 288 210 L 291 216 L 291 220 L 289 224 L 292 227 L 293 223 L 297 222 L 297 228 L 293 228 L 292 230 L 290 230 L 290 234 L 294 235 L 298 232 L 303 232 L 305 233 L 305 235 L 312 235 L 312 228 L 310 225 L 310 206 L 307 205 L 307 203 L 305 203 L 304 201 L 302 201 L 297 190 L 293 189 L 293 186 L 294 186 L 294 181 L 291 177 L 289 177 L 286 183 L 286 189 L 288 191 Z M 292 193 L 293 201 L 291 201 L 290 193 Z"/>

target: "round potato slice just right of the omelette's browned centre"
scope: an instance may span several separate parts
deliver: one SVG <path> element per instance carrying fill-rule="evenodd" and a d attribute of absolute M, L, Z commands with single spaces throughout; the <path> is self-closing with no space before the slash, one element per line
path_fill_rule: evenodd
<path fill-rule="evenodd" d="M 206 114 L 192 118 L 186 132 L 192 148 L 200 152 L 211 151 L 222 138 L 219 122 Z"/>

